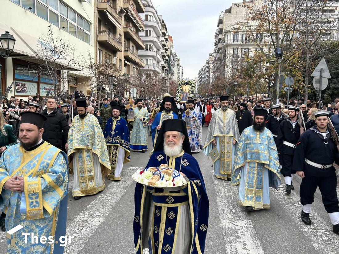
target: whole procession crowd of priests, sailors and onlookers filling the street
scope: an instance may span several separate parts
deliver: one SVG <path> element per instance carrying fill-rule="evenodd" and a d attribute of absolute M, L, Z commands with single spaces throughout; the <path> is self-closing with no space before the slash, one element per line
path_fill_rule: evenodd
<path fill-rule="evenodd" d="M 57 99 L 43 99 L 37 93 L 27 102 L 15 97 L 4 100 L 0 114 L 1 229 L 20 224 L 36 234 L 64 235 L 68 172 L 74 175 L 72 196 L 77 200 L 102 191 L 105 176 L 120 181 L 131 151 L 149 151 L 146 168 L 165 164 L 190 181 L 171 189 L 136 185 L 137 253 L 143 248 L 152 253 L 171 249 L 173 253 L 198 253 L 197 249 L 203 253 L 209 203 L 199 164 L 192 156 L 202 151 L 211 158 L 217 178 L 239 186 L 238 203 L 247 212 L 270 208 L 269 188 L 278 188 L 281 174 L 285 192 L 290 194 L 298 174 L 303 223 L 311 224 L 313 195 L 319 187 L 333 232 L 339 233 L 334 168 L 339 153 L 327 129 L 331 119 L 339 131 L 339 98 L 326 110 L 318 110 L 319 102 L 303 104 L 303 98 L 288 104 L 281 99 L 274 105 L 271 98 L 258 99 L 188 97 L 180 102 L 164 94 L 162 99 L 98 100 L 78 90 L 73 96 L 67 90 Z M 149 135 L 152 144 L 148 144 Z M 9 240 L 8 251 L 47 253 L 53 248 L 54 253 L 63 252 L 57 243 L 23 242 L 12 246 Z"/>

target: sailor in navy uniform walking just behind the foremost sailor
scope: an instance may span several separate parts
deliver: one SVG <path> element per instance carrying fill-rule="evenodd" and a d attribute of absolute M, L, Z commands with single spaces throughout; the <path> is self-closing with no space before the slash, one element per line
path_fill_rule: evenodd
<path fill-rule="evenodd" d="M 294 190 L 292 185 L 293 175 L 297 172 L 292 170 L 294 150 L 300 137 L 300 126 L 298 122 L 299 108 L 288 106 L 289 117 L 284 119 L 279 125 L 277 137 L 277 150 L 280 154 L 282 169 L 280 172 L 284 176 L 286 183 L 285 192 L 290 194 Z"/>

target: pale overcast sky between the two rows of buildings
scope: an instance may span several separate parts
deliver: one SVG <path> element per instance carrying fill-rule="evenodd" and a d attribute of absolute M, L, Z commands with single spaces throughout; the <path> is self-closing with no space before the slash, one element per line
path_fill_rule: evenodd
<path fill-rule="evenodd" d="M 219 13 L 229 8 L 231 0 L 153 0 L 162 15 L 168 34 L 173 36 L 184 78 L 193 79 L 214 49 L 214 33 Z"/>

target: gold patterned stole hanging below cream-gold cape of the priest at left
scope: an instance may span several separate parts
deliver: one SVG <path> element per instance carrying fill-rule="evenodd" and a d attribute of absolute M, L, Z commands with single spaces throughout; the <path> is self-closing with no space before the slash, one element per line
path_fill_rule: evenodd
<path fill-rule="evenodd" d="M 92 193 L 96 190 L 92 149 L 80 149 L 75 156 L 79 167 L 80 192 L 81 194 Z"/>

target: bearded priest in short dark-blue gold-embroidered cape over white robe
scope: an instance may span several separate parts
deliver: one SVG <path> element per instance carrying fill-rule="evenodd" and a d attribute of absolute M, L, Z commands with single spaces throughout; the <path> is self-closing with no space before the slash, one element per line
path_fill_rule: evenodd
<path fill-rule="evenodd" d="M 131 161 L 129 151 L 129 130 L 125 119 L 120 117 L 121 106 L 111 102 L 112 117 L 107 120 L 104 129 L 104 138 L 107 145 L 108 158 L 112 172 L 107 178 L 114 181 L 121 180 L 121 171 L 125 163 Z"/>

